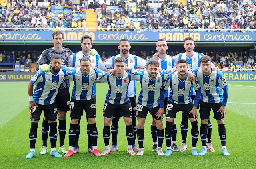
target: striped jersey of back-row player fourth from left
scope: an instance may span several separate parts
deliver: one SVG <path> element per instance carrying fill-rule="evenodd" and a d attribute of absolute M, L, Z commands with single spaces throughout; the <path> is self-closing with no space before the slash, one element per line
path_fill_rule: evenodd
<path fill-rule="evenodd" d="M 153 57 L 148 59 L 148 61 L 150 61 L 150 60 L 153 60 Z M 158 63 L 159 63 L 159 68 L 161 68 L 162 70 L 168 70 L 168 69 L 172 69 L 175 67 L 174 59 L 169 56 L 166 56 L 164 60 L 162 58 L 158 57 Z M 171 89 L 169 87 L 168 90 L 166 91 L 166 93 L 164 94 L 164 97 L 168 97 L 170 92 L 171 92 Z"/>

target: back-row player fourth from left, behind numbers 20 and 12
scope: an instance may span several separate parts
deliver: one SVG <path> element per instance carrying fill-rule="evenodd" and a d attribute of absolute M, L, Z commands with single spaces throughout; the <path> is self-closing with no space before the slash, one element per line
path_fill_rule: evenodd
<path fill-rule="evenodd" d="M 174 59 L 170 56 L 166 55 L 166 51 L 168 50 L 168 46 L 167 46 L 167 42 L 164 39 L 158 39 L 158 41 L 156 42 L 156 50 L 158 51 L 158 63 L 159 63 L 159 68 L 161 68 L 162 70 L 168 70 L 168 69 L 172 69 L 173 67 L 175 67 L 174 64 Z M 152 58 L 148 59 L 148 61 L 152 60 Z M 170 88 L 168 88 L 168 91 L 165 93 L 165 100 L 164 100 L 164 110 L 166 110 L 166 105 L 167 105 L 167 100 L 168 100 L 168 96 L 170 93 Z M 157 150 L 157 137 L 156 137 L 156 123 L 154 118 L 152 117 L 152 123 L 151 123 L 151 136 L 153 139 L 153 152 L 156 152 Z M 179 149 L 177 148 L 177 144 L 176 144 L 176 136 L 177 136 L 177 128 L 176 128 L 176 124 L 175 121 L 173 121 L 173 126 L 172 126 L 172 147 L 174 149 L 174 151 L 178 151 Z"/>

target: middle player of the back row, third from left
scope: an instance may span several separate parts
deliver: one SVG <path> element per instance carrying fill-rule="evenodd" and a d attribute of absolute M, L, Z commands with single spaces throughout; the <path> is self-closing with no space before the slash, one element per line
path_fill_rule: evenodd
<path fill-rule="evenodd" d="M 120 49 L 120 54 L 108 58 L 106 61 L 104 61 L 104 64 L 107 68 L 114 68 L 114 60 L 117 57 L 124 57 L 126 59 L 126 65 L 128 67 L 132 68 L 144 68 L 146 66 L 146 61 L 136 55 L 132 55 L 129 53 L 131 46 L 128 39 L 121 39 L 119 41 L 118 49 Z M 131 102 L 132 106 L 132 126 L 134 131 L 134 137 L 132 141 L 132 148 L 134 151 L 138 151 L 138 147 L 135 145 L 136 140 L 136 132 L 137 132 L 137 124 L 136 124 L 136 107 L 137 107 L 137 101 L 136 101 L 136 88 L 135 88 L 135 81 L 131 81 L 129 87 L 128 87 L 128 95 L 129 100 Z M 117 151 L 117 134 L 118 134 L 118 121 L 120 118 L 120 112 L 116 112 L 113 116 L 113 121 L 111 125 L 111 134 L 112 134 L 112 147 L 110 148 L 111 152 Z"/>

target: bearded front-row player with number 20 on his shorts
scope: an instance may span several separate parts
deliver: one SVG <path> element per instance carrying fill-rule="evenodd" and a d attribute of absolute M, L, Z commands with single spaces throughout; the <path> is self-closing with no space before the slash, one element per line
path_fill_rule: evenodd
<path fill-rule="evenodd" d="M 144 124 L 148 111 L 151 112 L 151 115 L 156 122 L 156 135 L 158 138 L 157 155 L 164 155 L 162 151 L 162 145 L 164 140 L 164 128 L 162 116 L 158 113 L 158 110 L 160 108 L 159 96 L 160 89 L 162 87 L 164 80 L 168 77 L 168 75 L 170 75 L 170 73 L 174 72 L 174 69 L 165 71 L 163 73 L 158 73 L 159 63 L 156 60 L 148 61 L 146 67 L 146 71 L 140 71 L 137 69 L 126 67 L 126 70 L 130 71 L 133 75 L 135 75 L 136 80 L 139 80 L 141 85 L 141 91 L 138 98 L 136 112 L 138 120 L 137 138 L 139 143 L 139 151 L 137 155 L 144 155 Z"/>

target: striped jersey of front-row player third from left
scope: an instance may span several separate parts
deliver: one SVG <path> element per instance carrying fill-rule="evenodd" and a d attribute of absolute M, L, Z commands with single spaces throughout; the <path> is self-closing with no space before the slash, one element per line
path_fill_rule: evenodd
<path fill-rule="evenodd" d="M 108 72 L 101 77 L 100 82 L 107 82 L 109 89 L 107 92 L 106 101 L 111 104 L 123 104 L 128 102 L 128 85 L 132 80 L 135 80 L 134 76 L 130 72 L 124 71 L 124 75 L 120 78 L 114 75 L 108 75 Z"/>

